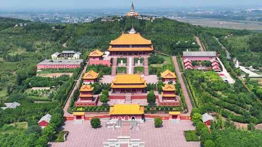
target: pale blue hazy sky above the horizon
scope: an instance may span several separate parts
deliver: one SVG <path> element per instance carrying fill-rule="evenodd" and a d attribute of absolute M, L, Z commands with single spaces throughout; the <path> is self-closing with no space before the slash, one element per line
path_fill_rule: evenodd
<path fill-rule="evenodd" d="M 0 0 L 0 8 L 128 8 L 134 1 L 137 8 L 258 6 L 262 0 Z"/>

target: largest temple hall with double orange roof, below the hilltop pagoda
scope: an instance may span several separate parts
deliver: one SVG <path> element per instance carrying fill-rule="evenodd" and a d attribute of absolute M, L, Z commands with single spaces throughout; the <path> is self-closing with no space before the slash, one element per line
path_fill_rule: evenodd
<path fill-rule="evenodd" d="M 143 38 L 133 28 L 111 41 L 110 56 L 148 56 L 154 50 L 152 42 Z"/>

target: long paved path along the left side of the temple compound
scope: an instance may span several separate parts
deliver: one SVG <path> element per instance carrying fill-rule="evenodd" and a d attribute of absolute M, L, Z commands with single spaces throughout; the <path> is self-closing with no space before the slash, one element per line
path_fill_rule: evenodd
<path fill-rule="evenodd" d="M 71 99 L 72 99 L 72 97 L 73 97 L 73 95 L 74 95 L 74 92 L 75 92 L 75 90 L 78 88 L 78 85 L 79 85 L 79 83 L 80 83 L 80 80 L 81 80 L 83 74 L 84 74 L 85 71 L 86 71 L 87 65 L 88 65 L 88 62 L 86 62 L 86 65 L 85 65 L 84 69 L 82 70 L 82 73 L 81 73 L 81 75 L 79 76 L 75 87 L 73 88 L 72 92 L 70 93 L 70 96 L 69 96 L 68 100 L 66 101 L 66 105 L 65 105 L 65 107 L 64 107 L 64 109 L 63 109 L 63 110 L 64 110 L 64 117 L 72 116 L 72 114 L 69 114 L 69 113 L 67 112 L 67 110 L 68 110 L 68 108 L 69 108 L 69 104 L 70 104 L 70 101 L 71 101 Z"/>

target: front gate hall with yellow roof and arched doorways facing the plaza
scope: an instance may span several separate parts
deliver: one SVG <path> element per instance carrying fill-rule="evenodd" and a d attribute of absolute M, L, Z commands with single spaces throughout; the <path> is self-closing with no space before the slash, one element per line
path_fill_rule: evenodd
<path fill-rule="evenodd" d="M 144 122 L 144 107 L 139 104 L 115 104 L 110 107 L 111 119 Z"/>

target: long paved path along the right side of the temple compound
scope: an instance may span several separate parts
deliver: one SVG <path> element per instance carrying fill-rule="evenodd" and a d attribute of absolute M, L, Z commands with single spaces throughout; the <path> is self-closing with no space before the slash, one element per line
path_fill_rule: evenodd
<path fill-rule="evenodd" d="M 185 116 L 190 116 L 191 111 L 192 111 L 192 103 L 191 103 L 190 98 L 189 98 L 189 95 L 188 95 L 188 93 L 187 93 L 186 86 L 185 86 L 184 80 L 183 80 L 183 78 L 182 78 L 182 75 L 181 75 L 181 73 L 180 73 L 180 69 L 179 69 L 177 57 L 174 56 L 174 57 L 172 57 L 172 59 L 173 59 L 173 61 L 174 61 L 176 73 L 177 73 L 177 76 L 178 76 L 178 78 L 179 78 L 179 81 L 180 81 L 180 84 L 181 84 L 181 88 L 182 88 L 182 91 L 183 91 L 183 94 L 184 94 L 184 97 L 185 97 L 187 109 L 188 109 L 188 112 L 187 112 L 186 114 L 184 114 L 184 115 L 185 115 Z"/>

